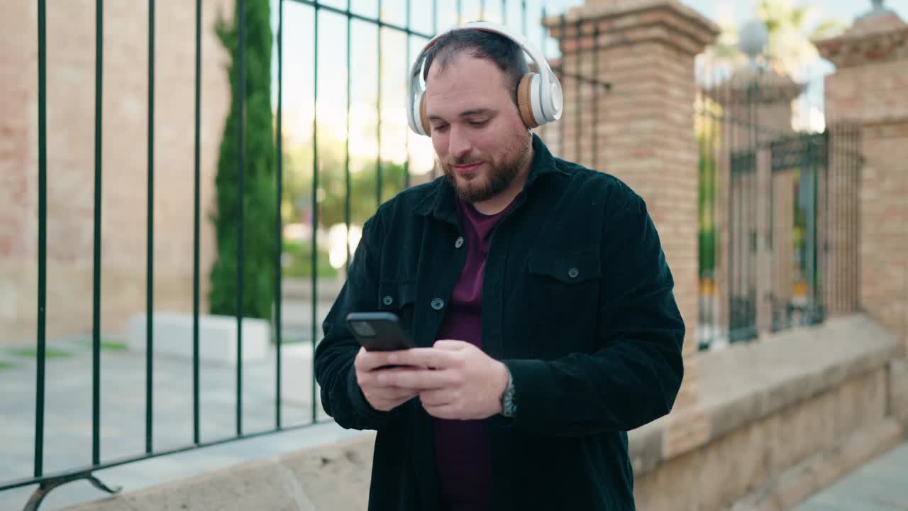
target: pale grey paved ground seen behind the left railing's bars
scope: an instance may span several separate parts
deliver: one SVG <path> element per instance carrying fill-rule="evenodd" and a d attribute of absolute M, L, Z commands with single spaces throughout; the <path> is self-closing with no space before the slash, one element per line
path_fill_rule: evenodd
<path fill-rule="evenodd" d="M 44 473 L 86 466 L 92 459 L 92 355 L 84 339 L 54 342 L 47 357 Z M 284 426 L 311 421 L 311 347 L 284 346 Z M 112 344 L 101 354 L 101 459 L 141 455 L 145 442 L 145 355 Z M 275 353 L 243 365 L 243 432 L 274 427 Z M 35 458 L 35 356 L 29 348 L 0 348 L 0 482 L 32 475 Z M 204 363 L 200 370 L 202 441 L 236 434 L 236 367 Z M 318 399 L 318 396 L 317 396 Z M 330 419 L 317 403 L 319 420 Z M 198 474 L 261 456 L 281 454 L 343 436 L 329 424 L 162 456 L 99 472 L 105 483 L 126 491 L 178 476 Z M 317 434 L 317 431 L 322 431 Z M 313 444 L 314 442 L 314 444 Z M 192 361 L 154 356 L 153 449 L 192 443 Z M 21 509 L 35 486 L 0 492 L 0 509 Z M 55 489 L 41 509 L 55 509 L 104 496 L 86 482 Z"/>

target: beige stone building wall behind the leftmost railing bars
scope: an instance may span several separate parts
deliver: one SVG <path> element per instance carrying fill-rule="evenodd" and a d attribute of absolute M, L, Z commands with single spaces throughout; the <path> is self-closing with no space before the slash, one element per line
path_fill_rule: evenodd
<path fill-rule="evenodd" d="M 90 331 L 94 261 L 94 1 L 48 2 L 47 335 Z M 232 2 L 203 2 L 202 307 L 214 256 L 208 215 L 223 121 L 228 55 L 213 34 Z M 148 5 L 104 3 L 102 325 L 123 330 L 145 307 Z M 0 19 L 0 344 L 34 343 L 37 309 L 37 7 L 12 2 Z M 195 7 L 155 13 L 154 307 L 192 311 Z"/>

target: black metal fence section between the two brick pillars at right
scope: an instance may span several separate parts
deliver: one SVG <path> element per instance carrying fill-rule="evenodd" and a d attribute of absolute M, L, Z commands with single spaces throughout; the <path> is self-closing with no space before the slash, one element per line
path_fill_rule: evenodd
<path fill-rule="evenodd" d="M 756 66 L 704 75 L 700 348 L 857 310 L 860 132 L 817 114 L 814 81 Z"/>

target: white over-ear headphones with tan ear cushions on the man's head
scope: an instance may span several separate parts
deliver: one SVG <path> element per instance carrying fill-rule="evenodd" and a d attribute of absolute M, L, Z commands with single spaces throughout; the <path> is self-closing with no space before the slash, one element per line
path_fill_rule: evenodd
<path fill-rule="evenodd" d="M 561 118 L 561 111 L 564 106 L 564 95 L 561 92 L 561 84 L 558 77 L 552 73 L 548 66 L 548 61 L 542 56 L 542 53 L 531 45 L 523 35 L 512 33 L 504 25 L 486 22 L 472 22 L 458 25 L 449 30 L 486 30 L 495 34 L 504 35 L 508 39 L 517 43 L 525 51 L 539 73 L 528 73 L 520 79 L 517 88 L 518 109 L 523 124 L 528 128 L 534 128 L 546 123 L 557 121 Z M 423 59 L 429 48 L 435 44 L 439 37 L 448 34 L 441 33 L 433 37 L 427 43 L 413 67 L 410 69 L 410 95 L 408 96 L 407 121 L 412 129 L 418 135 L 429 135 L 429 119 L 426 117 L 426 89 L 419 83 L 422 75 Z"/>

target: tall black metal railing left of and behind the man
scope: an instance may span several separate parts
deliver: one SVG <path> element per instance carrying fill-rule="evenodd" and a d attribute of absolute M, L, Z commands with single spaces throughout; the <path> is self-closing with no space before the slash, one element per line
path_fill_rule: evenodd
<path fill-rule="evenodd" d="M 238 202 L 238 222 L 236 225 L 237 237 L 239 239 L 238 250 L 236 253 L 236 267 L 238 268 L 236 272 L 237 279 L 237 296 L 236 296 L 236 308 L 237 313 L 236 317 L 236 326 L 237 326 L 237 338 L 236 338 L 236 364 L 235 364 L 235 377 L 236 377 L 236 403 L 235 403 L 235 432 L 231 436 L 215 438 L 215 439 L 203 439 L 202 432 L 200 428 L 201 421 L 201 410 L 200 410 L 200 316 L 202 315 L 201 310 L 201 299 L 200 293 L 202 288 L 201 279 L 201 261 L 200 261 L 200 236 L 202 232 L 201 225 L 201 194 L 200 190 L 202 187 L 202 171 L 201 171 L 201 131 L 202 131 L 202 0 L 195 0 L 195 19 L 194 19 L 194 29 L 195 29 L 195 75 L 194 75 L 194 126 L 193 126 L 193 145 L 194 145 L 194 154 L 193 154 L 193 165 L 192 165 L 192 441 L 188 442 L 182 446 L 172 446 L 167 448 L 156 447 L 154 443 L 154 389 L 153 389 L 153 372 L 154 372 L 154 317 L 155 317 L 155 296 L 153 294 L 153 283 L 154 283 L 154 219 L 155 219 L 155 209 L 154 209 L 154 190 L 155 190 L 155 163 L 154 163 L 154 152 L 155 152 L 155 124 L 154 124 L 154 113 L 155 113 L 155 1 L 148 1 L 148 68 L 147 68 L 147 77 L 148 77 L 148 96 L 147 96 L 147 195 L 146 195 L 146 212 L 147 212 L 147 221 L 145 225 L 145 235 L 147 238 L 147 247 L 145 253 L 145 283 L 146 283 L 146 294 L 145 294 L 145 325 L 144 325 L 144 335 L 145 335 L 145 354 L 144 354 L 144 370 L 145 370 L 145 386 L 144 386 L 144 446 L 143 452 L 133 456 L 121 456 L 115 458 L 105 458 L 102 456 L 102 446 L 103 446 L 103 436 L 101 428 L 101 387 L 102 387 L 102 362 L 101 362 L 101 350 L 102 350 L 102 305 L 101 305 L 101 290 L 102 290 L 102 225 L 103 225 L 103 214 L 102 211 L 102 185 L 104 184 L 104 174 L 102 168 L 102 148 L 103 148 L 103 119 L 102 115 L 102 105 L 104 99 L 104 0 L 96 0 L 95 3 L 95 87 L 94 87 L 94 217 L 93 217 L 93 233 L 94 233 L 94 254 L 93 254 L 93 280 L 92 280 L 92 331 L 91 331 L 91 352 L 92 352 L 92 455 L 90 463 L 84 466 L 72 466 L 64 470 L 48 472 L 44 468 L 44 434 L 45 434 L 45 412 L 46 412 L 46 358 L 47 358 L 47 349 L 48 349 L 48 338 L 47 338 L 47 317 L 46 317 L 46 306 L 47 306 L 47 289 L 48 289 L 48 280 L 47 280 L 47 185 L 48 185 L 48 175 L 47 175 L 47 2 L 46 0 L 36 0 L 37 1 L 37 50 L 38 50 L 38 65 L 37 65 L 37 108 L 38 108 L 38 168 L 37 168 L 37 336 L 36 336 L 36 370 L 35 370 L 35 449 L 34 449 L 34 470 L 31 476 L 25 476 L 19 479 L 0 481 L 0 491 L 9 490 L 17 487 L 24 486 L 33 486 L 37 485 L 35 492 L 28 500 L 25 505 L 26 510 L 37 509 L 41 505 L 44 496 L 48 494 L 55 487 L 64 485 L 66 483 L 85 479 L 91 482 L 94 486 L 110 492 L 115 493 L 120 491 L 120 488 L 117 486 L 107 486 L 101 482 L 94 472 L 104 468 L 110 468 L 114 466 L 122 466 L 124 464 L 134 463 L 140 460 L 151 459 L 158 456 L 170 456 L 176 453 L 182 453 L 186 451 L 191 451 L 193 449 L 198 449 L 205 446 L 215 446 L 223 443 L 233 442 L 240 439 L 252 438 L 256 436 L 265 436 L 272 433 L 286 431 L 291 429 L 297 429 L 301 427 L 311 426 L 316 424 L 319 421 L 317 416 L 317 407 L 318 407 L 318 396 L 316 390 L 316 384 L 314 381 L 314 373 L 311 376 L 311 417 L 309 421 L 306 421 L 302 424 L 287 424 L 284 420 L 284 417 L 281 416 L 281 403 L 283 399 L 283 392 L 281 388 L 281 346 L 283 343 L 282 336 L 282 317 L 281 317 L 281 301 L 283 296 L 283 278 L 281 276 L 281 253 L 284 248 L 283 244 L 283 233 L 284 225 L 281 219 L 281 199 L 285 194 L 284 188 L 284 135 L 283 135 L 283 45 L 284 45 L 284 1 L 283 0 L 274 0 L 271 4 L 276 5 L 278 10 L 277 16 L 277 35 L 274 38 L 277 44 L 277 95 L 276 95 L 276 136 L 275 136 L 275 145 L 276 145 L 276 163 L 275 163 L 275 193 L 277 194 L 277 211 L 276 211 L 276 222 L 273 225 L 273 229 L 276 232 L 276 238 L 278 243 L 278 249 L 276 250 L 276 258 L 273 262 L 278 271 L 275 272 L 275 293 L 274 293 L 274 313 L 272 318 L 273 328 L 273 342 L 276 346 L 275 350 L 275 371 L 276 371 L 276 380 L 275 385 L 275 416 L 273 426 L 262 431 L 248 432 L 243 428 L 242 418 L 243 418 L 243 338 L 242 338 L 242 324 L 243 324 L 243 266 L 244 266 L 244 252 L 243 252 L 243 240 L 246 235 L 243 231 L 243 194 L 244 194 L 244 179 L 245 179 L 245 168 L 247 165 L 247 158 L 250 155 L 246 153 L 246 140 L 245 137 L 246 127 L 244 126 L 244 115 L 238 116 L 239 129 L 237 134 L 237 153 L 236 153 L 236 162 L 238 166 L 238 174 L 236 176 L 237 186 L 239 190 L 240 200 Z M 261 1 L 261 0 L 251 0 L 251 1 Z M 376 123 L 376 132 L 375 137 L 378 142 L 379 150 L 377 151 L 375 159 L 375 172 L 376 172 L 376 184 L 375 184 L 375 200 L 376 204 L 380 204 L 382 200 L 389 198 L 387 196 L 387 190 L 383 190 L 383 184 L 387 183 L 385 171 L 388 170 L 387 162 L 382 159 L 381 155 L 381 135 L 382 135 L 382 60 L 388 58 L 389 55 L 386 52 L 383 52 L 382 48 L 382 34 L 384 31 L 391 31 L 393 33 L 398 33 L 406 36 L 407 39 L 407 51 L 405 55 L 400 55 L 405 59 L 405 68 L 409 68 L 410 60 L 413 55 L 410 55 L 410 40 L 411 38 L 418 38 L 421 40 L 428 40 L 435 32 L 438 30 L 439 25 L 439 2 L 438 0 L 433 0 L 432 2 L 432 33 L 426 33 L 414 29 L 411 26 L 410 20 L 410 0 L 407 1 L 406 5 L 406 22 L 403 25 L 391 23 L 390 21 L 383 19 L 382 16 L 382 5 L 381 0 L 378 2 L 378 15 L 369 16 L 363 15 L 361 13 L 353 12 L 350 10 L 350 0 L 348 0 L 346 8 L 340 8 L 336 5 L 326 5 L 315 0 L 288 0 L 294 5 L 301 5 L 303 7 L 308 7 L 313 13 L 313 31 L 312 31 L 312 45 L 314 47 L 314 67 L 312 73 L 312 138 L 311 138 L 311 204 L 313 205 L 311 211 L 311 226 L 312 226 L 312 249 L 311 249 L 311 276 L 310 276 L 310 287 L 311 287 L 311 330 L 310 342 L 311 348 L 314 351 L 316 343 L 320 337 L 318 332 L 319 321 L 319 310 L 318 310 L 318 289 L 319 289 L 319 272 L 317 268 L 320 263 L 320 254 L 317 249 L 317 231 L 320 225 L 320 216 L 319 208 L 315 205 L 319 203 L 319 190 L 320 190 L 320 162 L 321 155 L 319 152 L 320 141 L 319 141 L 319 115 L 318 108 L 316 107 L 319 101 L 320 94 L 320 77 L 319 77 L 319 45 L 322 38 L 320 33 L 320 17 L 321 14 L 328 15 L 340 15 L 346 18 L 346 69 L 351 67 L 351 23 L 353 22 L 362 22 L 370 25 L 374 25 L 377 28 L 378 37 L 376 40 L 376 51 L 375 58 L 378 61 L 378 70 L 379 75 L 375 80 L 376 87 L 376 112 L 377 112 L 377 123 Z M 237 52 L 234 56 L 235 64 L 237 65 L 238 74 L 241 77 L 246 75 L 246 65 L 247 65 L 247 55 L 246 55 L 246 28 L 247 28 L 247 19 L 246 19 L 246 4 L 247 0 L 236 0 L 238 9 L 237 13 L 239 14 L 238 19 L 236 20 L 237 29 L 239 33 L 239 44 L 237 45 Z M 498 21 L 508 23 L 508 7 L 513 7 L 515 2 L 508 0 L 501 0 L 500 2 L 500 19 Z M 487 14 L 487 3 L 485 1 L 481 2 L 480 5 L 480 18 L 485 18 Z M 528 33 L 528 8 L 526 0 L 521 0 L 519 2 L 519 12 L 520 20 L 519 23 L 522 26 L 522 32 L 524 34 Z M 459 21 L 463 20 L 463 9 L 461 2 L 457 3 L 457 19 Z M 542 12 L 542 15 L 545 15 L 545 11 Z M 564 16 L 561 17 L 561 26 L 565 26 Z M 563 37 L 564 32 L 562 32 Z M 344 35 L 330 35 L 331 37 L 343 37 Z M 543 30 L 540 35 L 540 42 L 542 47 L 545 48 L 546 39 L 548 32 Z M 577 35 L 579 37 L 579 34 Z M 543 50 L 545 51 L 545 50 Z M 594 59 L 597 59 L 597 54 L 594 53 Z M 592 95 L 594 108 L 593 108 L 593 117 L 591 119 L 591 125 L 593 129 L 596 130 L 597 126 L 597 110 L 598 110 L 598 98 L 603 91 L 607 91 L 607 83 L 601 82 L 598 79 L 598 76 L 595 75 L 596 64 L 594 64 L 594 75 L 593 76 L 584 76 L 579 73 L 579 66 L 577 66 L 577 73 L 568 73 L 568 70 L 563 65 L 555 65 L 554 70 L 559 75 L 559 77 L 565 81 L 566 88 L 573 87 L 571 90 L 574 90 L 577 94 L 573 98 L 573 101 L 577 102 L 577 111 L 580 111 L 579 105 L 583 101 L 580 97 L 580 87 L 581 85 L 592 87 L 595 91 Z M 347 136 L 345 137 L 344 142 L 344 164 L 343 164 L 343 176 L 344 176 L 344 224 L 347 228 L 347 233 L 350 232 L 350 225 L 353 221 L 351 213 L 351 156 L 350 156 L 350 104 L 351 104 L 351 73 L 346 73 L 346 86 L 347 86 L 347 103 L 346 103 L 346 126 L 347 126 Z M 404 78 L 401 76 L 400 78 Z M 573 85 L 569 85 L 570 81 L 573 81 Z M 239 80 L 239 94 L 235 95 L 234 101 L 236 102 L 237 111 L 244 113 L 245 112 L 245 88 L 246 80 Z M 569 95 L 568 95 L 569 97 Z M 577 126 L 580 124 L 579 115 L 577 116 Z M 578 128 L 579 129 L 579 128 Z M 561 130 L 561 140 L 558 147 L 563 148 L 564 136 L 563 129 Z M 400 183 L 402 186 L 410 185 L 410 139 L 409 135 L 406 139 L 405 148 L 407 158 L 403 164 L 403 183 Z M 556 151 L 558 152 L 558 151 Z M 597 151 L 594 150 L 592 155 L 592 164 L 595 165 L 597 162 L 596 158 Z M 338 169 L 332 169 L 336 171 Z M 435 177 L 437 175 L 437 170 L 435 168 L 431 169 L 430 175 Z M 347 250 L 346 250 L 346 261 L 344 266 L 348 266 L 350 263 L 350 237 L 347 236 Z M 53 283 L 50 283 L 53 285 Z"/>

